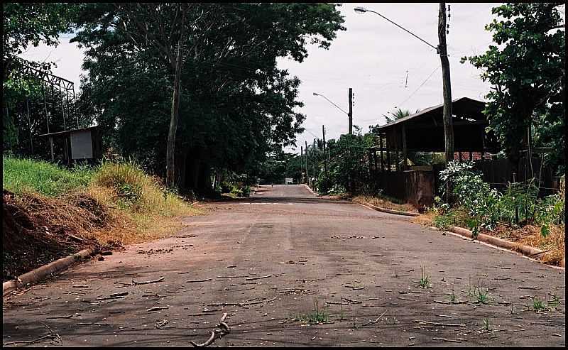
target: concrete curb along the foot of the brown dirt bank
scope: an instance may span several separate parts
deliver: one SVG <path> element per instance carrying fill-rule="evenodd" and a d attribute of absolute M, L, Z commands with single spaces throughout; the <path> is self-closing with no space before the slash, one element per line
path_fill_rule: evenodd
<path fill-rule="evenodd" d="M 9 294 L 13 290 L 16 290 L 18 288 L 22 288 L 25 285 L 28 285 L 28 283 L 29 284 L 37 283 L 39 280 L 43 280 L 43 278 L 45 278 L 46 276 L 48 276 L 52 273 L 56 273 L 56 272 L 59 272 L 61 270 L 65 270 L 66 268 L 71 266 L 72 263 L 75 263 L 76 261 L 80 261 L 80 260 L 86 258 L 87 256 L 91 255 L 92 252 L 93 252 L 93 250 L 90 249 L 90 248 L 84 249 L 84 250 L 82 250 L 78 253 L 72 254 L 70 256 L 66 256 L 65 258 L 60 258 L 56 261 L 48 263 L 47 265 L 40 266 L 39 268 L 36 268 L 35 270 L 31 270 L 28 273 L 24 273 L 23 275 L 18 277 L 18 280 L 6 281 L 6 282 L 2 283 L 2 297 Z"/>

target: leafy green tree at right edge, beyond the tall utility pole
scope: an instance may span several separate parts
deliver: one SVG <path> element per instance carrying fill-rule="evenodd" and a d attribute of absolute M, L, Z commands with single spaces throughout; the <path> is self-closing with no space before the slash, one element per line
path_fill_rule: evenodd
<path fill-rule="evenodd" d="M 469 58 L 493 87 L 484 113 L 513 163 L 530 146 L 530 134 L 555 147 L 555 165 L 564 168 L 564 87 L 566 39 L 562 3 L 504 4 L 492 9 L 503 19 L 486 26 L 493 42 L 486 53 Z M 538 137 L 537 137 L 538 141 Z"/>

